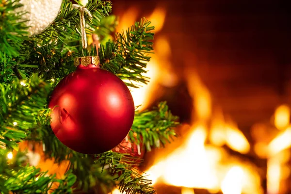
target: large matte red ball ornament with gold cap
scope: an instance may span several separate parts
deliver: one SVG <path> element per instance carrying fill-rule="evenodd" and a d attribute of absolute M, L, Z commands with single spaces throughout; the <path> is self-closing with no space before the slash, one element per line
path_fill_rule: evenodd
<path fill-rule="evenodd" d="M 134 118 L 128 87 L 98 63 L 97 57 L 76 58 L 77 70 L 58 83 L 49 102 L 53 132 L 65 146 L 83 154 L 117 146 Z"/>

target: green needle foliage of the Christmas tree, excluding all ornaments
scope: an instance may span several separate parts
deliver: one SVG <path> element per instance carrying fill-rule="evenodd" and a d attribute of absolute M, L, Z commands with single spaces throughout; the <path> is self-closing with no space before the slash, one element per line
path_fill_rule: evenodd
<path fill-rule="evenodd" d="M 52 25 L 27 37 L 24 23 L 16 22 L 21 16 L 13 13 L 17 6 L 19 0 L 6 0 L 0 5 L 0 81 L 9 82 L 0 83 L 0 191 L 72 193 L 75 183 L 83 191 L 96 186 L 104 191 L 119 186 L 127 194 L 153 194 L 151 181 L 139 174 L 129 154 L 77 153 L 64 146 L 50 129 L 50 110 L 45 109 L 49 92 L 55 82 L 74 70 L 73 56 L 81 56 L 79 10 L 72 9 L 71 2 L 64 0 Z M 97 33 L 103 41 L 109 38 L 116 25 L 114 16 L 105 17 L 111 12 L 111 2 L 89 0 L 86 7 L 93 15 L 92 20 L 85 16 L 87 34 Z M 128 86 L 138 87 L 132 81 L 146 83 L 144 73 L 152 51 L 153 30 L 150 22 L 142 19 L 126 32 L 117 33 L 116 42 L 108 41 L 105 45 L 102 42 L 99 49 L 102 68 L 128 80 Z M 26 85 L 13 78 L 16 76 L 28 78 Z M 153 111 L 136 113 L 129 138 L 133 143 L 143 141 L 148 150 L 150 146 L 159 147 L 158 142 L 163 145 L 176 135 L 172 129 L 178 124 L 176 120 L 166 104 L 161 103 Z M 16 143 L 23 140 L 42 142 L 46 156 L 55 162 L 69 160 L 70 170 L 64 179 L 48 177 L 46 172 L 19 162 L 25 158 L 22 152 L 18 152 L 16 162 L 8 161 L 7 152 L 11 148 L 17 150 Z M 52 190 L 52 183 L 57 183 L 58 188 Z"/>

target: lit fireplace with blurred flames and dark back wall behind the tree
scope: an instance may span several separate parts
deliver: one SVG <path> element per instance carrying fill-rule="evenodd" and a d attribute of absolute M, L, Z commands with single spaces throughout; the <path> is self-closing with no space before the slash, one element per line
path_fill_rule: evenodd
<path fill-rule="evenodd" d="M 139 109 L 167 100 L 178 137 L 141 164 L 158 194 L 291 193 L 291 14 L 284 2 L 113 0 L 118 30 L 156 27 Z M 117 190 L 113 194 L 118 194 Z"/>

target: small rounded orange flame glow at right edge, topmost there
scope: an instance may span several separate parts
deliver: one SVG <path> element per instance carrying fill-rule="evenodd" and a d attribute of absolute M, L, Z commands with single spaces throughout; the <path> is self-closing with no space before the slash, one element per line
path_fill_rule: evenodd
<path fill-rule="evenodd" d="M 290 108 L 287 105 L 281 105 L 275 110 L 274 124 L 277 129 L 286 129 L 290 123 Z"/>

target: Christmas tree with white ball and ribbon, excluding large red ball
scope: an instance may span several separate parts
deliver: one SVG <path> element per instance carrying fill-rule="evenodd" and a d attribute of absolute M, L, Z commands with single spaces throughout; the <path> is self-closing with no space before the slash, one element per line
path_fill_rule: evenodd
<path fill-rule="evenodd" d="M 52 3 L 60 3 L 59 8 Z M 142 18 L 126 32 L 114 34 L 117 19 L 110 15 L 110 1 L 77 3 L 0 0 L 1 194 L 107 194 L 113 188 L 127 194 L 155 193 L 137 166 L 142 150 L 163 146 L 176 135 L 177 117 L 166 102 L 151 110 L 135 111 L 126 140 L 103 153 L 73 151 L 52 130 L 52 91 L 76 71 L 75 57 L 98 56 L 99 69 L 115 74 L 129 89 L 149 81 L 145 68 L 154 36 L 150 21 Z M 93 128 L 101 130 L 100 126 Z M 101 141 L 106 147 L 111 139 Z M 90 148 L 95 149 L 99 147 Z M 44 170 L 39 160 L 52 162 L 59 172 Z"/>

